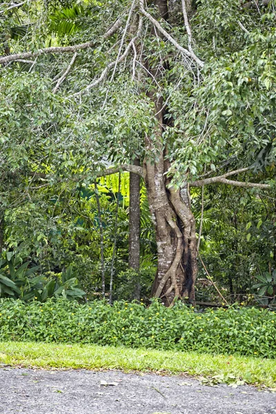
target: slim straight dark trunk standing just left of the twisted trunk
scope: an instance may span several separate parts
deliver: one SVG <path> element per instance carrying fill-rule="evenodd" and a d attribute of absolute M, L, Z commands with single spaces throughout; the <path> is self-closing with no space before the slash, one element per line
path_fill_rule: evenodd
<path fill-rule="evenodd" d="M 140 165 L 135 159 L 135 166 Z M 135 299 L 140 299 L 140 177 L 130 172 L 130 206 L 129 206 L 129 257 L 128 266 L 137 272 L 137 282 L 134 288 Z"/>

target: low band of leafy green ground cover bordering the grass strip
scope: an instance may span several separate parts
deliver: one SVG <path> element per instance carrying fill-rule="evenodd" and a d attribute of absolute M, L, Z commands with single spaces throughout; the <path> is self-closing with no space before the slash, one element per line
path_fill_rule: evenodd
<path fill-rule="evenodd" d="M 160 302 L 0 301 L 0 341 L 59 342 L 276 357 L 276 314 L 231 307 L 200 313 Z"/>

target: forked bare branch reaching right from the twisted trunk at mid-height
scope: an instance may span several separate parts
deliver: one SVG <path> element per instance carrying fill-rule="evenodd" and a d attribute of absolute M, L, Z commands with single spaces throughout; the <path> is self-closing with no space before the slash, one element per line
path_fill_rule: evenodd
<path fill-rule="evenodd" d="M 191 187 L 201 187 L 201 186 L 207 186 L 208 184 L 215 184 L 215 183 L 221 183 L 221 184 L 228 184 L 230 186 L 235 187 L 244 187 L 244 188 L 261 188 L 263 190 L 269 190 L 271 186 L 269 184 L 259 184 L 259 183 L 251 183 L 246 181 L 233 181 L 230 179 L 227 179 L 227 177 L 230 177 L 230 175 L 239 174 L 240 172 L 245 172 L 250 170 L 250 167 L 246 168 L 240 168 L 239 170 L 234 170 L 230 172 L 226 172 L 224 175 L 219 175 L 217 177 L 210 177 L 206 179 L 200 179 L 199 181 L 193 181 L 190 183 Z"/>

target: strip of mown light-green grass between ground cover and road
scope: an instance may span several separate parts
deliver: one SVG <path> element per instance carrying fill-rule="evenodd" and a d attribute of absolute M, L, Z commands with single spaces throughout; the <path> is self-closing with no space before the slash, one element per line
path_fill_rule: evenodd
<path fill-rule="evenodd" d="M 155 351 L 98 345 L 0 342 L 0 364 L 37 368 L 121 369 L 189 375 L 234 375 L 247 384 L 276 386 L 276 359 Z"/>

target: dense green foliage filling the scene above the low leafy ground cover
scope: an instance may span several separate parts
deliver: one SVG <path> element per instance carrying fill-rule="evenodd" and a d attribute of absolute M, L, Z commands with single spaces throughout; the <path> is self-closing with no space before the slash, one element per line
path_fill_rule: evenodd
<path fill-rule="evenodd" d="M 126 35 L 131 3 L 35 0 L 8 10 L 6 3 L 0 6 L 1 57 L 93 43 L 77 51 L 72 66 L 67 53 L 1 63 L 0 250 L 3 261 L 12 255 L 18 266 L 12 271 L 9 261 L 1 262 L 0 297 L 44 300 L 57 291 L 72 291 L 73 285 L 61 287 L 61 275 L 70 267 L 79 280 L 80 286 L 74 280 L 75 288 L 95 297 L 101 289 L 102 247 L 106 290 L 114 273 L 115 299 L 132 299 L 135 279 L 141 296 L 150 297 L 157 244 L 146 189 L 141 188 L 141 271 L 136 274 L 128 269 L 128 173 L 121 172 L 120 188 L 118 175 L 98 179 L 100 208 L 95 180 L 111 164 L 131 164 L 137 157 L 141 163 L 147 157 L 156 161 L 160 148 L 150 97 L 158 97 L 166 108 L 161 149 L 177 188 L 185 180 L 193 184 L 241 168 L 247 170 L 235 179 L 270 186 L 268 191 L 217 183 L 204 186 L 204 197 L 201 189 L 191 187 L 190 204 L 197 236 L 204 204 L 199 253 L 227 301 L 273 306 L 275 1 L 187 1 L 192 5 L 191 43 L 204 68 L 158 37 L 157 30 L 154 37 L 153 26 L 144 19 L 136 57 L 130 49 L 90 87 L 132 39 L 140 14 L 137 1 Z M 181 1 L 168 2 L 168 21 L 159 16 L 157 3 L 148 2 L 150 15 L 186 46 Z M 118 17 L 122 26 L 103 39 Z M 157 74 L 150 76 L 148 67 L 155 66 Z M 206 279 L 198 264 L 199 279 Z M 203 286 L 197 285 L 197 298 L 217 302 L 215 288 Z"/>

